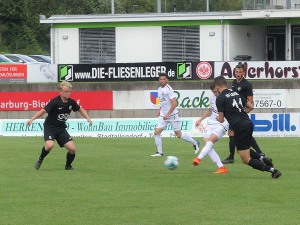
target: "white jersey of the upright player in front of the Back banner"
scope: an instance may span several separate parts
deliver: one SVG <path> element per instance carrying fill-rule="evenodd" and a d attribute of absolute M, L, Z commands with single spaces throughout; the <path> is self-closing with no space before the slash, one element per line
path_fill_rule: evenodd
<path fill-rule="evenodd" d="M 169 110 L 172 105 L 171 99 L 176 97 L 176 94 L 174 93 L 172 87 L 168 84 L 166 84 L 164 87 L 158 87 L 158 97 L 160 101 L 160 116 L 164 116 Z M 169 116 L 172 116 L 174 114 L 178 114 L 177 107 L 174 108 L 174 110 L 171 112 Z"/>

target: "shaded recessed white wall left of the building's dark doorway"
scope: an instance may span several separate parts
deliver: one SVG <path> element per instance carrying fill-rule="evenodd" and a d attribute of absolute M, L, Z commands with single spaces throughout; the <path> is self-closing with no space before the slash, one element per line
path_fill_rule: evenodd
<path fill-rule="evenodd" d="M 265 60 L 266 26 L 227 25 L 227 51 L 224 60 L 233 60 L 236 55 L 251 55 L 251 61 Z M 250 36 L 247 36 L 250 33 Z"/>

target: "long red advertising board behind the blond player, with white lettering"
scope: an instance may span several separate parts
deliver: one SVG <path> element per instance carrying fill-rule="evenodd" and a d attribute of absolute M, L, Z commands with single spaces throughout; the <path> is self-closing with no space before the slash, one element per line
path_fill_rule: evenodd
<path fill-rule="evenodd" d="M 0 110 L 40 110 L 58 91 L 0 92 Z M 112 109 L 112 91 L 72 91 L 71 98 L 87 110 Z"/>

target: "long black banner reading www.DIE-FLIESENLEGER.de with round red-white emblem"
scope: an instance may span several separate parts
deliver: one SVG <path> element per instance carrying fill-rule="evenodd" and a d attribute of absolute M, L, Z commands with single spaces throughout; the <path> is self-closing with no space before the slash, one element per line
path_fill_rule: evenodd
<path fill-rule="evenodd" d="M 58 64 L 58 81 L 148 81 L 166 72 L 169 80 L 212 79 L 213 62 Z"/>

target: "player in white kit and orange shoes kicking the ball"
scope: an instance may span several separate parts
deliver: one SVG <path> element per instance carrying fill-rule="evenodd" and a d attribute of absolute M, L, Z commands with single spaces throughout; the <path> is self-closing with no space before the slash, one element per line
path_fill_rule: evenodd
<path fill-rule="evenodd" d="M 215 88 L 214 83 L 210 84 L 210 90 L 212 91 L 213 95 L 209 99 L 210 107 L 204 114 L 201 116 L 199 120 L 196 121 L 195 126 L 199 126 L 201 121 L 210 115 L 206 125 L 206 131 L 204 134 L 204 147 L 201 149 L 199 155 L 192 161 L 194 165 L 198 165 L 200 160 L 203 159 L 207 154 L 210 159 L 218 166 L 218 170 L 213 173 L 225 173 L 228 170 L 222 164 L 220 157 L 212 148 L 213 144 L 218 141 L 228 130 L 229 123 L 225 119 L 224 122 L 220 123 L 215 119 L 218 116 L 217 108 L 215 105 L 215 99 L 218 95 L 218 92 Z"/>

